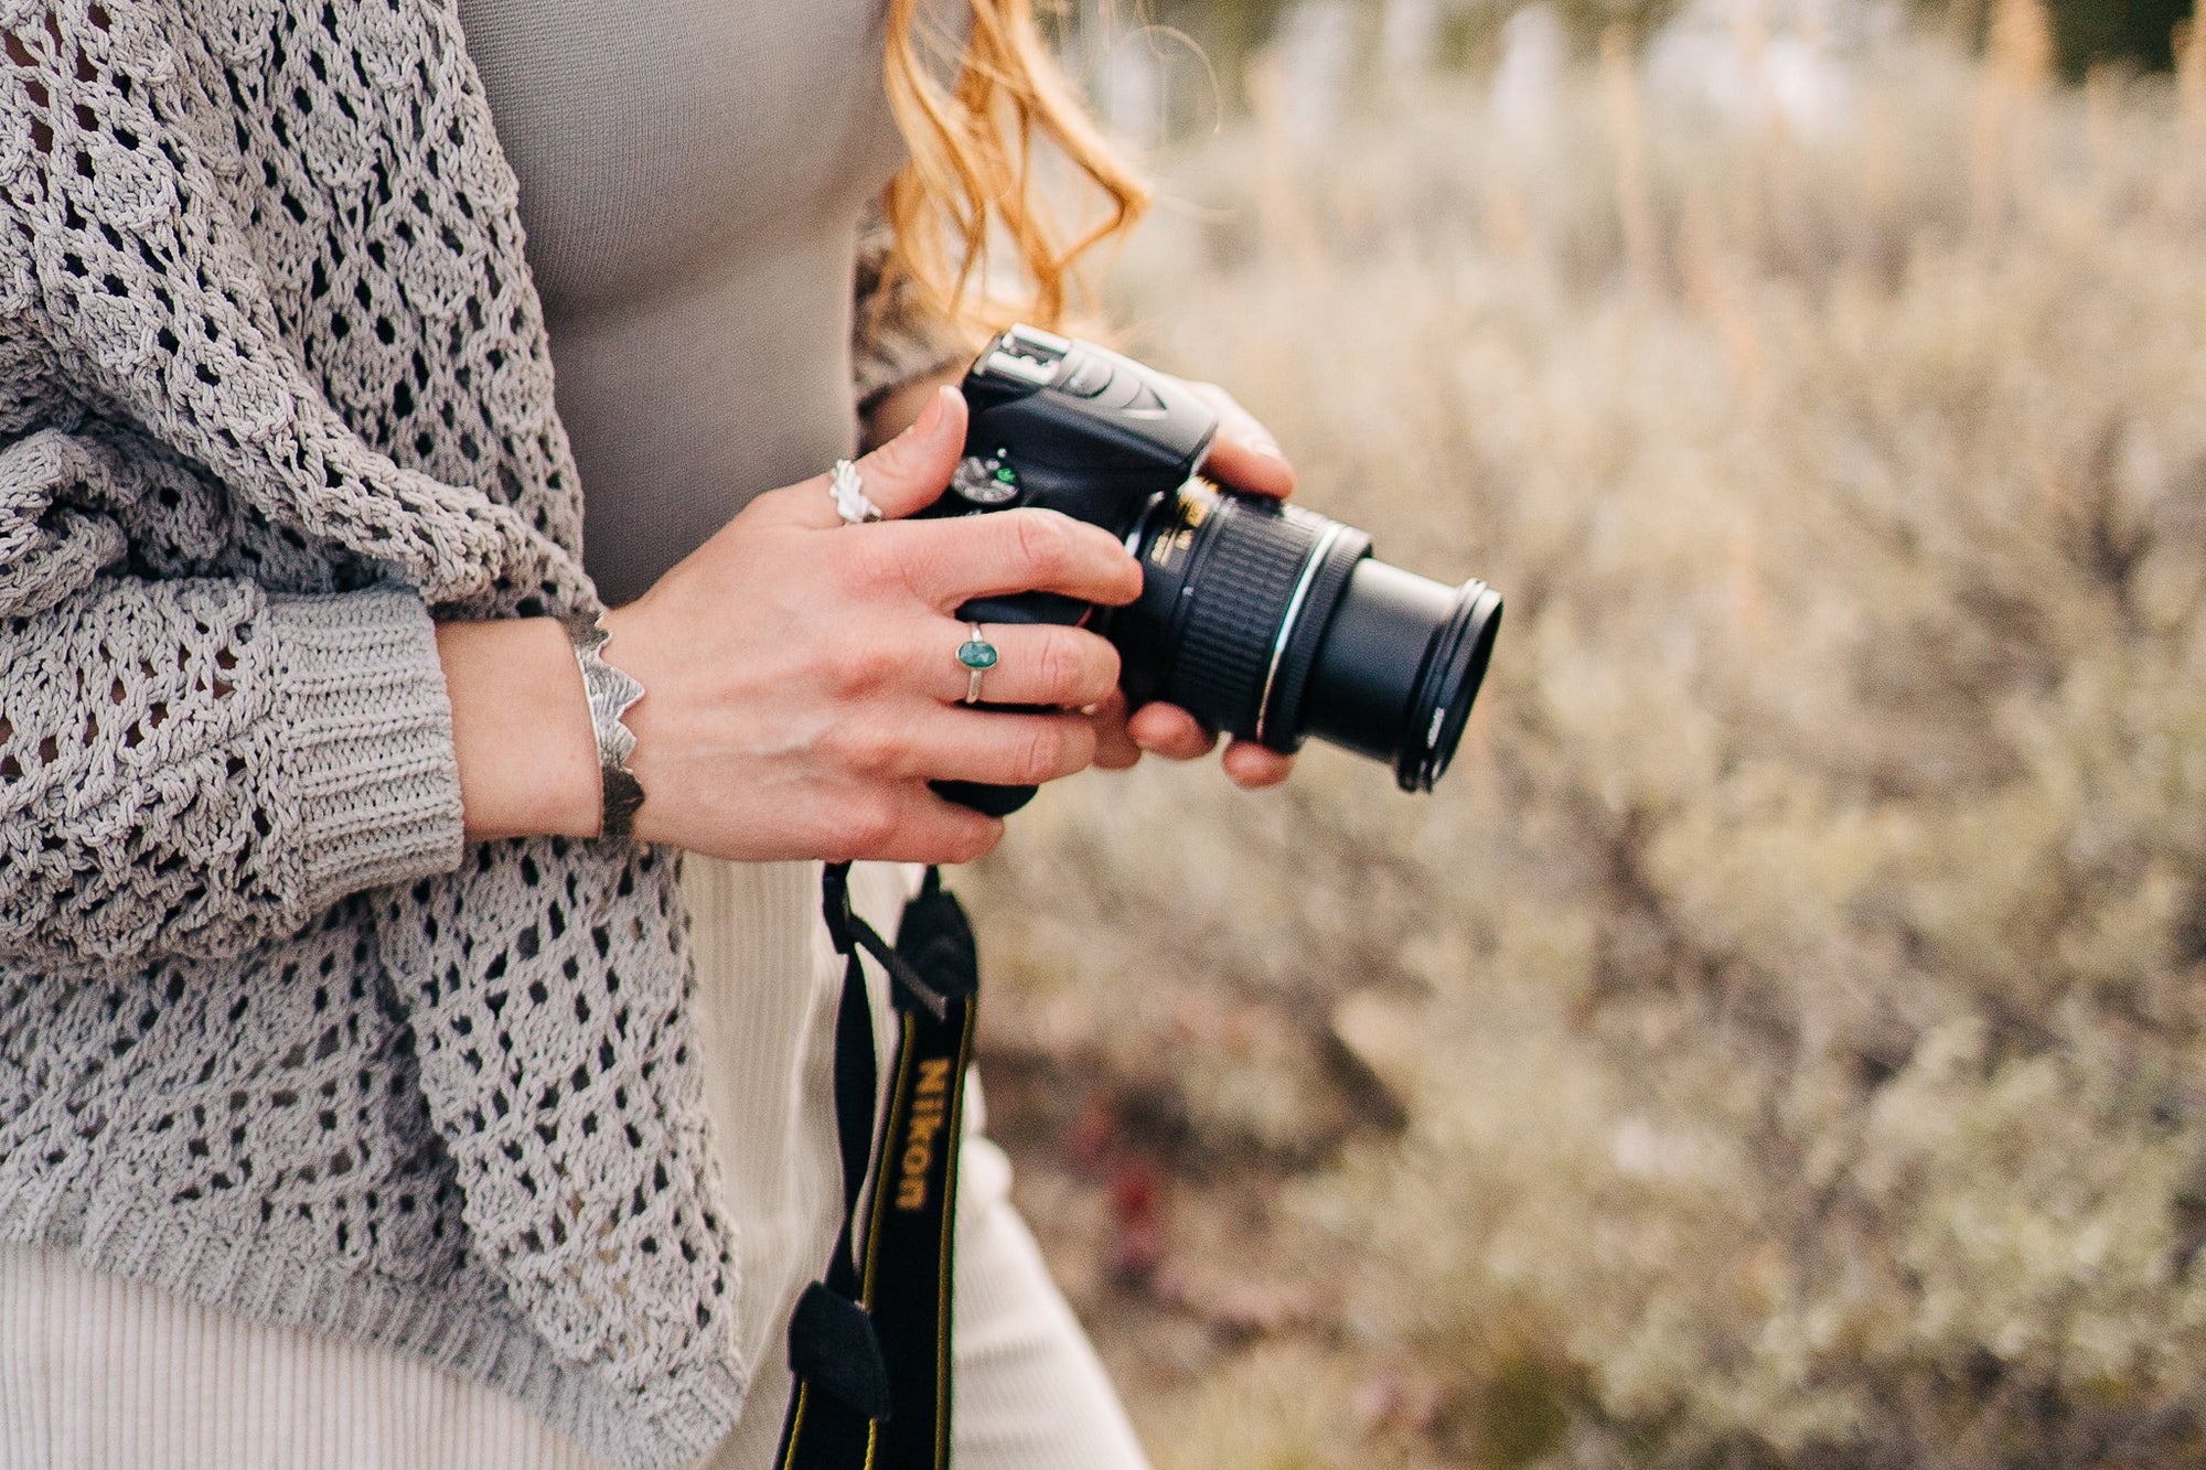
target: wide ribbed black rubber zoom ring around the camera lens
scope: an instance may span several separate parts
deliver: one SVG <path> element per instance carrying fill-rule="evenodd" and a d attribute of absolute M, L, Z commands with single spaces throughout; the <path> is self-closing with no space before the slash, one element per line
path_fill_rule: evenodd
<path fill-rule="evenodd" d="M 1204 528 L 1209 556 L 1189 576 L 1196 596 L 1178 629 L 1167 697 L 1207 724 L 1253 735 L 1271 651 L 1324 521 L 1222 505 L 1224 514 Z"/>

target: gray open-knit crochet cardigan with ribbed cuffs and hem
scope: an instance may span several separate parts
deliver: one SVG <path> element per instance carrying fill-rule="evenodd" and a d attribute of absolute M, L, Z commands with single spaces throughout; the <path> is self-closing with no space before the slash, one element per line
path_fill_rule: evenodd
<path fill-rule="evenodd" d="M 580 523 L 450 0 L 0 0 L 0 1238 L 657 1466 L 746 1391 L 673 859 L 463 845 L 430 627 Z"/>

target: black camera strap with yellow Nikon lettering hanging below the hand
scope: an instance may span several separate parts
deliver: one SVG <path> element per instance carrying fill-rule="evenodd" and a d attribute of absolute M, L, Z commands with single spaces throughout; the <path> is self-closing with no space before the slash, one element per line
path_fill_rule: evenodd
<path fill-rule="evenodd" d="M 845 956 L 834 1037 L 843 1229 L 825 1278 L 805 1287 L 790 1318 L 796 1388 L 774 1466 L 946 1470 L 957 1143 L 979 1011 L 973 927 L 933 867 L 904 905 L 896 945 L 852 909 L 849 863 L 829 863 L 821 890 L 827 934 Z M 898 1024 L 885 1128 L 867 954 L 889 971 Z"/>

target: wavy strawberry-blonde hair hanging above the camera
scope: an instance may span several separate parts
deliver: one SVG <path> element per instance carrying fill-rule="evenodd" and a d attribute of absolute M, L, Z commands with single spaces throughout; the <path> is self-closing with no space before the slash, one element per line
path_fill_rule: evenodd
<path fill-rule="evenodd" d="M 975 335 L 1010 318 L 1063 324 L 1081 298 L 1081 256 L 1141 219 L 1147 183 L 1057 68 L 1032 0 L 971 0 L 962 46 L 922 33 L 924 4 L 889 0 L 885 75 L 911 161 L 882 196 L 896 234 L 885 280 L 918 287 L 927 305 Z M 960 66 L 944 86 L 946 68 L 929 62 L 953 46 Z M 1037 143 L 1054 148 L 1072 163 L 1072 183 L 1101 199 L 1099 223 L 1079 234 L 1065 225 L 1063 192 L 1043 196 Z M 988 269 L 999 247 L 1017 263 L 1015 280 Z"/>

